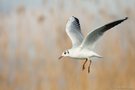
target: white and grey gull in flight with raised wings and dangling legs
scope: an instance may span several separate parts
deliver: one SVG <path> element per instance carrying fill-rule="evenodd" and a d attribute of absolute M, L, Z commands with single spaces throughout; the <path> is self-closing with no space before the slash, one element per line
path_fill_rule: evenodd
<path fill-rule="evenodd" d="M 84 38 L 78 18 L 71 16 L 66 24 L 66 33 L 71 39 L 72 48 L 65 50 L 59 57 L 70 57 L 76 60 L 85 60 L 82 70 L 85 69 L 85 64 L 89 61 L 88 73 L 90 72 L 90 65 L 92 58 L 102 58 L 101 55 L 93 51 L 96 41 L 104 34 L 105 31 L 127 20 L 128 17 L 108 23 L 96 30 L 90 31 Z"/>

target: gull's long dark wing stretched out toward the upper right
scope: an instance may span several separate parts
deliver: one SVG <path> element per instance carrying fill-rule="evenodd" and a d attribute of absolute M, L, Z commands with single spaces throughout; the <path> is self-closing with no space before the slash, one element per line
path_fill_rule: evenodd
<path fill-rule="evenodd" d="M 111 22 L 109 24 L 106 24 L 106 25 L 88 33 L 86 38 L 83 40 L 83 42 L 81 44 L 81 47 L 92 49 L 95 45 L 95 42 L 103 35 L 103 33 L 105 31 L 107 31 L 107 30 L 111 29 L 112 27 L 120 24 L 121 22 L 125 21 L 126 19 L 128 19 L 128 17 L 126 17 L 125 19 L 121 19 L 121 20 Z"/>

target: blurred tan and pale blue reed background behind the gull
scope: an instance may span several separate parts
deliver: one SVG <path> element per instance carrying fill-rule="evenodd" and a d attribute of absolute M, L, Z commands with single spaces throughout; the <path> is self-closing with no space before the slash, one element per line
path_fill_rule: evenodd
<path fill-rule="evenodd" d="M 135 90 L 135 0 L 0 0 L 0 90 Z M 80 20 L 86 35 L 111 21 L 92 62 L 64 58 L 65 26 Z M 88 63 L 87 65 L 88 66 Z"/>

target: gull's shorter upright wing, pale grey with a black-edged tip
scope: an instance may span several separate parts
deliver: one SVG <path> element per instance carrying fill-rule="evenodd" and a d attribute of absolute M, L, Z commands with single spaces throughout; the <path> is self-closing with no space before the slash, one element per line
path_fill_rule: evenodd
<path fill-rule="evenodd" d="M 66 25 L 66 33 L 72 41 L 72 47 L 78 47 L 83 41 L 79 20 L 72 16 L 69 18 Z"/>

